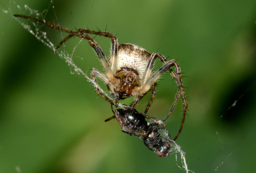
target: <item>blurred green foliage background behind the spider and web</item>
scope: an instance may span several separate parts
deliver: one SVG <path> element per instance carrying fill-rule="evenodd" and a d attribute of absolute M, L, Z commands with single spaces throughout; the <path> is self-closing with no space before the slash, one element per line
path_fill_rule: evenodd
<path fill-rule="evenodd" d="M 50 1 L 16 1 L 21 7 L 48 9 Z M 69 1 L 54 0 L 61 26 L 117 36 L 150 53 L 178 60 L 188 101 L 188 116 L 176 140 L 195 172 L 254 172 L 256 1 Z M 1 0 L 1 9 L 15 5 Z M 21 9 L 21 11 L 24 11 Z M 27 13 L 28 14 L 28 13 Z M 55 21 L 52 7 L 46 15 Z M 36 40 L 10 14 L 0 27 L 0 172 L 185 172 L 180 154 L 158 157 L 142 141 L 121 132 L 109 103 L 82 76 Z M 47 29 L 47 28 L 46 28 Z M 48 29 L 57 45 L 60 32 Z M 80 39 L 70 39 L 72 51 Z M 95 40 L 108 55 L 110 40 Z M 79 67 L 102 67 L 88 41 L 76 48 Z M 158 60 L 156 68 L 161 65 Z M 163 119 L 177 86 L 163 75 L 149 116 Z M 101 83 L 101 86 L 106 87 Z M 137 107 L 143 111 L 149 95 Z M 229 109 L 235 102 L 236 106 Z M 126 103 L 132 102 L 132 98 Z M 166 125 L 174 137 L 179 104 Z M 216 170 L 217 169 L 217 170 Z"/>

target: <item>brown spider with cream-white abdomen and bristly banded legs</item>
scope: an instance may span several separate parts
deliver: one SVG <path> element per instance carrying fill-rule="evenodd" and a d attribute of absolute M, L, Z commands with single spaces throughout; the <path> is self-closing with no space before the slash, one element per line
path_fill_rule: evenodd
<path fill-rule="evenodd" d="M 134 96 L 134 101 L 131 104 L 131 108 L 133 109 L 135 108 L 137 103 L 143 98 L 143 96 L 147 94 L 150 90 L 152 90 L 151 98 L 144 112 L 146 114 L 156 96 L 156 81 L 164 74 L 164 72 L 169 71 L 172 75 L 172 78 L 176 81 L 178 89 L 172 107 L 169 110 L 167 116 L 164 118 L 164 121 L 170 116 L 178 102 L 179 97 L 181 96 L 184 109 L 180 130 L 174 140 L 177 139 L 185 121 L 187 101 L 181 82 L 180 66 L 175 60 L 167 61 L 163 55 L 159 53 L 150 54 L 147 50 L 134 44 L 118 45 L 117 38 L 109 32 L 92 31 L 82 28 L 76 31 L 72 31 L 62 26 L 55 25 L 34 17 L 18 14 L 14 14 L 13 16 L 34 20 L 51 28 L 59 29 L 63 32 L 68 33 L 69 35 L 60 42 L 60 44 L 56 47 L 55 51 L 59 49 L 60 46 L 72 36 L 77 36 L 82 39 L 88 40 L 89 44 L 99 56 L 101 64 L 105 70 L 104 74 L 99 70 L 92 68 L 91 77 L 95 82 L 95 91 L 105 100 L 107 100 L 111 105 L 117 106 L 118 100 Z M 111 38 L 112 47 L 109 57 L 105 56 L 103 50 L 100 48 L 98 43 L 94 41 L 88 34 L 100 35 L 103 37 Z M 158 70 L 153 72 L 153 66 L 156 58 L 159 58 L 162 61 L 163 65 Z M 175 72 L 172 70 L 172 66 L 175 67 Z M 109 98 L 99 90 L 99 88 L 97 87 L 98 82 L 96 77 L 100 78 L 106 83 L 109 92 L 114 97 L 114 102 L 111 98 Z"/>

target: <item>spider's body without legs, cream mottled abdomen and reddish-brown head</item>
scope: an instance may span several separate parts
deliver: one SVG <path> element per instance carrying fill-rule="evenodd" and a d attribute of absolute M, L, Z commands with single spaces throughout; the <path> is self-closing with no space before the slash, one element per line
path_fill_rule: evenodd
<path fill-rule="evenodd" d="M 115 105 L 119 99 L 124 99 L 131 95 L 143 95 L 145 90 L 149 90 L 151 86 L 144 89 L 145 85 L 142 85 L 149 58 L 150 54 L 136 45 L 120 44 L 118 46 L 115 71 L 110 75 L 106 74 L 106 76 L 109 76 L 109 84 L 107 83 L 107 85 L 115 98 Z M 150 74 L 151 72 L 152 70 L 148 71 Z"/>

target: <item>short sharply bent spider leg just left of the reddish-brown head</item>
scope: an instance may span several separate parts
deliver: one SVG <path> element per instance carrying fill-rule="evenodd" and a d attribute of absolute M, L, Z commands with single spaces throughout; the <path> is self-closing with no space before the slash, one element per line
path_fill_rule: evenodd
<path fill-rule="evenodd" d="M 95 83 L 93 83 L 95 92 L 98 93 L 102 98 L 104 98 L 106 101 L 108 101 L 112 105 L 113 104 L 112 100 L 110 98 L 108 98 L 105 94 L 100 92 L 99 88 L 97 87 L 99 84 L 97 82 L 96 76 L 98 76 L 100 79 L 102 79 L 107 85 L 111 85 L 108 81 L 108 78 L 99 70 L 92 68 L 91 77 L 95 82 Z"/>

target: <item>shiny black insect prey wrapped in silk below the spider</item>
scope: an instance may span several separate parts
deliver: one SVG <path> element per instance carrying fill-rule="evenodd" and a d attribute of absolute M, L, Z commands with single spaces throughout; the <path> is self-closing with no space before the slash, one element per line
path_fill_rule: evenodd
<path fill-rule="evenodd" d="M 166 130 L 164 121 L 130 108 L 116 109 L 114 114 L 122 126 L 122 132 L 140 138 L 145 146 L 158 156 L 166 157 L 172 152 L 173 140 Z"/>

